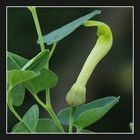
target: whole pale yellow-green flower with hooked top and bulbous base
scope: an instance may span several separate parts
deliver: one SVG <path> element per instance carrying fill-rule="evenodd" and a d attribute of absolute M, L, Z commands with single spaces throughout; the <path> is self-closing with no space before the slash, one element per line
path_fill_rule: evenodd
<path fill-rule="evenodd" d="M 99 61 L 112 47 L 113 37 L 111 29 L 103 22 L 88 20 L 83 23 L 86 27 L 97 26 L 98 40 L 86 59 L 83 68 L 71 89 L 66 95 L 66 101 L 70 106 L 79 106 L 85 103 L 86 84 Z"/>

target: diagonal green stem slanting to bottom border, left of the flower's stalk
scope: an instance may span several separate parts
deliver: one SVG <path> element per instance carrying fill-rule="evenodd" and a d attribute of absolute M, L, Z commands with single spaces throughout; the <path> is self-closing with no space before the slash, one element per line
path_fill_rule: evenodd
<path fill-rule="evenodd" d="M 50 116 L 52 117 L 52 119 L 54 120 L 56 126 L 58 127 L 60 132 L 64 132 L 63 127 L 61 126 L 57 116 L 55 115 L 53 109 L 51 106 L 48 106 L 46 104 L 44 104 L 37 95 L 34 95 L 34 98 L 36 99 L 36 101 L 50 114 Z"/>

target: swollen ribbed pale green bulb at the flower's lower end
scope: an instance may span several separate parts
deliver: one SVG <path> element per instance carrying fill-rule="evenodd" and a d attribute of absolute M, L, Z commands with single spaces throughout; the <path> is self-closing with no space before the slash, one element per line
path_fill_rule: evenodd
<path fill-rule="evenodd" d="M 79 84 L 74 84 L 69 90 L 66 101 L 70 106 L 78 106 L 85 103 L 86 88 Z"/>

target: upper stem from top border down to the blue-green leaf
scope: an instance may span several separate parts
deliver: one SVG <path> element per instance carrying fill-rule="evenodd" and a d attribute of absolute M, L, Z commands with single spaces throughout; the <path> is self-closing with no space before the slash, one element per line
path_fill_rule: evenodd
<path fill-rule="evenodd" d="M 39 42 L 40 42 L 41 51 L 43 51 L 43 50 L 45 50 L 45 46 L 44 46 L 44 43 L 43 43 L 42 32 L 41 32 L 37 12 L 36 12 L 36 7 L 29 6 L 28 8 L 32 13 L 34 23 L 35 23 L 35 27 L 36 27 L 36 30 L 37 30 L 37 34 L 38 34 L 38 38 L 39 38 Z"/>

